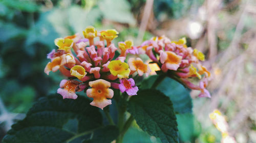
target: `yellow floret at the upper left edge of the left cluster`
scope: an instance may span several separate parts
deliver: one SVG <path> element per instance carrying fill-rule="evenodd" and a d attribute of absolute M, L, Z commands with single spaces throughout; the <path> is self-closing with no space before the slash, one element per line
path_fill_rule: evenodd
<path fill-rule="evenodd" d="M 57 38 L 54 40 L 54 44 L 59 47 L 61 50 L 68 52 L 73 46 L 73 40 Z"/>

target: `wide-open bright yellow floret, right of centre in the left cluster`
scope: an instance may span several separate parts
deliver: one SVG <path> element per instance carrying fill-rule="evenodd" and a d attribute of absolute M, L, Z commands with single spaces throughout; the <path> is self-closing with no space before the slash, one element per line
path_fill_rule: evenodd
<path fill-rule="evenodd" d="M 128 78 L 131 70 L 126 63 L 122 63 L 120 60 L 111 61 L 108 68 L 110 73 L 118 78 Z"/>

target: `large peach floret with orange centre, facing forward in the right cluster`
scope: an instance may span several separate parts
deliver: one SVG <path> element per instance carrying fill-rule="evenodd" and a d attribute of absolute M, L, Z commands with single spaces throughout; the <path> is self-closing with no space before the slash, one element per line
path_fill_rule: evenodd
<path fill-rule="evenodd" d="M 177 70 L 181 64 L 182 56 L 177 55 L 172 51 L 160 51 L 160 61 L 163 64 L 162 70 Z"/>

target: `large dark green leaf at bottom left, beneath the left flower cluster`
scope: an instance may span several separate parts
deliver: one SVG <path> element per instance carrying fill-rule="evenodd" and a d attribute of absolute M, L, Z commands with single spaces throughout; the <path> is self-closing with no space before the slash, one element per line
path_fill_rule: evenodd
<path fill-rule="evenodd" d="M 3 142 L 81 142 L 90 138 L 102 126 L 102 116 L 90 100 L 78 96 L 76 100 L 62 99 L 60 95 L 39 99 L 8 131 Z"/>

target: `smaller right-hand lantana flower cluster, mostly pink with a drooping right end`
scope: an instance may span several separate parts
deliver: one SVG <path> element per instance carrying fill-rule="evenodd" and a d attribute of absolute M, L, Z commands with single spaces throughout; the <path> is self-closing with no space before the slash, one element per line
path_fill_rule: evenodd
<path fill-rule="evenodd" d="M 205 56 L 197 49 L 187 47 L 186 39 L 170 41 L 167 37 L 154 37 L 144 41 L 130 53 L 147 54 L 159 66 L 163 73 L 180 81 L 192 90 L 199 90 L 199 97 L 209 97 L 205 89 L 208 84 L 210 72 L 201 64 Z M 201 79 L 199 83 L 193 83 L 193 78 Z M 197 85 L 198 84 L 198 85 Z"/>

